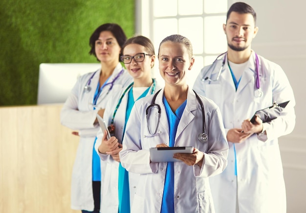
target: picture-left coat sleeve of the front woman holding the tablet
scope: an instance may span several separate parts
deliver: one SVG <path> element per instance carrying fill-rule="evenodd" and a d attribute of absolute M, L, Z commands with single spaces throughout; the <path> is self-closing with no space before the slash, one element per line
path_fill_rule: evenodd
<path fill-rule="evenodd" d="M 119 152 L 120 162 L 124 168 L 133 173 L 156 173 L 158 163 L 150 163 L 149 150 L 142 149 L 141 128 L 144 128 L 143 126 L 137 107 L 134 105 L 126 126 L 122 142 L 123 149 Z"/>

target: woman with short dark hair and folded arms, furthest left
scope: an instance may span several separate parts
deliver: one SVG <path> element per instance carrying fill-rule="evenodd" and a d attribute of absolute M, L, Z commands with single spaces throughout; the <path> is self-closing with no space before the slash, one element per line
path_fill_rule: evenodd
<path fill-rule="evenodd" d="M 100 159 L 93 149 L 99 130 L 96 115 L 103 116 L 112 94 L 131 83 L 131 76 L 119 63 L 126 35 L 118 24 L 102 24 L 90 36 L 89 53 L 101 63 L 101 69 L 82 75 L 71 90 L 61 111 L 61 123 L 77 130 L 80 142 L 71 179 L 71 208 L 99 213 Z"/>

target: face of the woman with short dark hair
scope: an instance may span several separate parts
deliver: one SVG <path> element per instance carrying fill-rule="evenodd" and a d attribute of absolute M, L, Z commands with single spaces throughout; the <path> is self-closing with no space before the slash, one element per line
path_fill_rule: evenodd
<path fill-rule="evenodd" d="M 101 62 L 119 62 L 121 47 L 110 31 L 102 31 L 95 42 L 95 53 Z"/>

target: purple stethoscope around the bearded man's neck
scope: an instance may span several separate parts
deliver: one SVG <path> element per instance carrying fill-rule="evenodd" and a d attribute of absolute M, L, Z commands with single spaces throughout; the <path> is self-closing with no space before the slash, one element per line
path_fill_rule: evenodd
<path fill-rule="evenodd" d="M 220 56 L 226 54 L 226 52 L 223 52 L 222 54 L 218 55 L 218 57 L 215 59 L 215 61 L 213 62 L 213 64 L 210 66 L 210 68 L 208 69 L 209 70 L 213 70 L 216 68 L 216 62 L 219 60 Z M 218 81 L 219 80 L 219 77 L 220 77 L 220 74 L 221 74 L 221 71 L 222 71 L 222 68 L 224 67 L 224 64 L 225 64 L 225 59 L 226 57 L 223 58 L 223 61 L 222 61 L 222 65 L 220 67 L 220 70 L 218 72 L 218 75 L 217 75 L 217 78 L 215 80 L 212 80 L 210 79 L 209 77 L 203 77 L 201 80 L 202 81 L 206 81 L 206 80 L 209 80 L 209 81 Z M 260 86 L 260 80 L 259 80 L 259 60 L 258 60 L 258 55 L 255 53 L 255 70 L 256 70 L 256 90 L 254 91 L 254 96 L 255 97 L 261 97 L 262 96 L 262 89 L 261 89 L 261 86 Z M 214 66 L 215 65 L 215 66 Z M 214 67 L 213 67 L 214 66 Z M 207 72 L 208 72 L 207 71 Z"/>

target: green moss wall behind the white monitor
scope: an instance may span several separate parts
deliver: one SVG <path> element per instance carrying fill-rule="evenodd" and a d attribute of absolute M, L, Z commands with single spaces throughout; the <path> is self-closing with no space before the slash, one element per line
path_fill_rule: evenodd
<path fill-rule="evenodd" d="M 101 24 L 134 34 L 134 0 L 0 0 L 0 105 L 37 102 L 41 63 L 92 63 Z"/>

